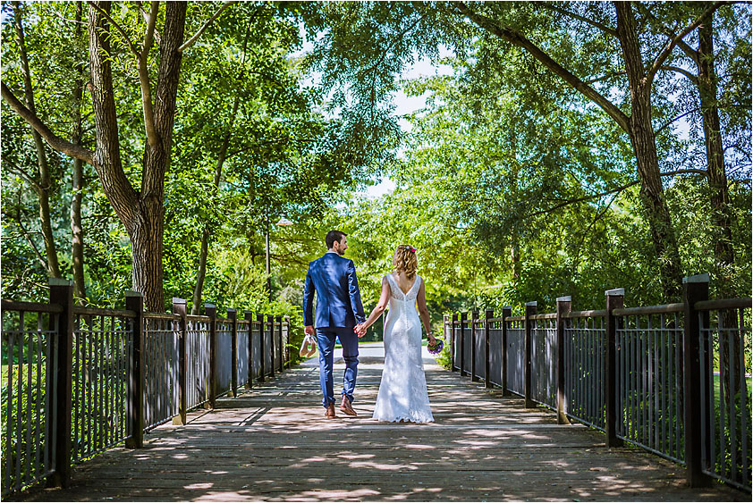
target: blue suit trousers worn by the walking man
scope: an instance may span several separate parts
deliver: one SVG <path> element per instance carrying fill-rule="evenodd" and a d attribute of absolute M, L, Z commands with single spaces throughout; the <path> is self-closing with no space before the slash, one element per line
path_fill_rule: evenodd
<path fill-rule="evenodd" d="M 356 388 L 356 375 L 359 365 L 359 338 L 353 328 L 322 327 L 317 328 L 317 346 L 319 349 L 319 384 L 322 387 L 322 405 L 327 407 L 334 403 L 334 339 L 343 346 L 345 374 L 343 376 L 343 395 L 353 401 Z"/>

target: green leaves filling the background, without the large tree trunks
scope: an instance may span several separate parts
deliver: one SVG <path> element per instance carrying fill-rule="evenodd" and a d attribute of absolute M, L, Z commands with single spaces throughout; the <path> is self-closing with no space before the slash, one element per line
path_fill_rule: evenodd
<path fill-rule="evenodd" d="M 38 114 L 63 137 L 72 124 L 74 69 L 89 64 L 86 30 L 77 40 L 70 21 L 75 6 L 22 6 Z M 186 33 L 195 33 L 218 6 L 190 3 Z M 616 39 L 563 13 L 613 27 L 613 6 L 554 6 L 560 10 L 546 3 L 476 5 L 520 29 L 628 112 Z M 636 180 L 630 138 L 528 52 L 478 29 L 455 7 L 241 3 L 209 26 L 182 60 L 173 161 L 165 175 L 165 306 L 172 297 L 190 298 L 206 232 L 202 297 L 221 309 L 290 314 L 295 325 L 307 264 L 324 253 L 330 229 L 350 234 L 348 256 L 357 264 L 367 311 L 402 243 L 419 248 L 419 273 L 435 320 L 446 311 L 506 305 L 517 313 L 530 300 L 549 311 L 562 295 L 573 296 L 576 307 L 600 307 L 604 290 L 619 287 L 627 290 L 629 305 L 664 302 L 656 274 L 661 257 L 639 188 L 626 187 Z M 3 80 L 21 96 L 12 4 L 3 8 Z M 665 27 L 689 22 L 700 8 L 638 5 L 643 48 L 663 44 Z M 723 276 L 732 278 L 740 296 L 749 295 L 753 263 L 749 9 L 725 6 L 714 21 L 735 247 L 734 270 Z M 133 5 L 118 4 L 113 17 L 133 40 L 143 37 L 146 24 Z M 697 38 L 694 31 L 686 41 L 696 47 Z M 300 54 L 304 39 L 313 44 L 308 54 Z M 111 42 L 123 164 L 138 186 L 140 89 L 122 35 L 114 32 Z M 452 55 L 440 60 L 445 52 Z M 157 54 L 157 48 L 149 54 L 151 70 Z M 401 72 L 419 57 L 448 65 L 452 74 L 401 81 Z M 670 63 L 694 70 L 680 50 Z M 409 133 L 399 131 L 393 116 L 393 93 L 401 87 L 427 98 L 425 109 L 406 118 Z M 83 144 L 91 147 L 93 119 L 89 100 L 84 102 Z M 662 170 L 703 167 L 697 87 L 676 71 L 660 71 L 652 104 Z M 7 105 L 2 114 L 2 292 L 5 298 L 44 300 L 38 201 L 21 174 L 37 169 L 34 145 L 29 127 Z M 682 114 L 684 130 L 673 122 Z M 70 275 L 71 162 L 48 154 L 55 245 L 63 273 Z M 131 284 L 131 245 L 97 173 L 85 166 L 84 175 L 88 301 L 122 305 Z M 377 200 L 355 195 L 382 175 L 396 183 L 392 194 Z M 714 281 L 721 265 L 707 252 L 720 233 L 709 193 L 696 174 L 664 178 L 684 272 L 712 272 Z M 282 216 L 295 225 L 277 227 Z M 268 300 L 267 280 L 274 301 Z"/>

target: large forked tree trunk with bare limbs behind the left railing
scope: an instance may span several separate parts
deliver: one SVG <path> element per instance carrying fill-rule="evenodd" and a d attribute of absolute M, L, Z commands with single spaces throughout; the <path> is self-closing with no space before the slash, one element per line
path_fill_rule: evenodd
<path fill-rule="evenodd" d="M 113 205 L 115 213 L 123 222 L 132 245 L 132 285 L 144 293 L 149 310 L 162 311 L 163 266 L 162 243 L 164 228 L 164 178 L 172 152 L 173 122 L 178 80 L 181 71 L 182 52 L 190 47 L 229 4 L 224 4 L 196 35 L 185 43 L 183 31 L 186 23 L 187 4 L 165 4 L 165 22 L 158 32 L 157 82 L 155 99 L 152 99 L 152 83 L 149 74 L 150 54 L 157 36 L 159 2 L 152 2 L 148 13 L 143 13 L 146 22 L 144 38 L 140 46 L 131 41 L 131 35 L 114 20 L 112 4 L 91 2 L 89 4 L 89 58 L 90 92 L 95 116 L 97 142 L 94 151 L 76 145 L 56 135 L 42 122 L 34 110 L 21 104 L 13 91 L 3 82 L 2 96 L 13 110 L 29 122 L 50 147 L 71 155 L 97 170 L 99 180 Z M 146 141 L 144 145 L 140 190 L 134 189 L 123 169 L 121 143 L 118 138 L 117 107 L 114 99 L 113 60 L 116 50 L 111 40 L 128 48 L 135 57 L 143 112 Z M 153 60 L 151 60 L 153 61 Z"/>

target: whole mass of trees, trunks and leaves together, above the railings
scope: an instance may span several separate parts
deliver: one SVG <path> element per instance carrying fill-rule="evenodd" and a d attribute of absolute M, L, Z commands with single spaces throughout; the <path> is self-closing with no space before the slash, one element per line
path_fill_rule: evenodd
<path fill-rule="evenodd" d="M 669 302 L 698 272 L 750 294 L 750 4 L 2 13 L 4 298 L 52 276 L 97 306 L 146 289 L 152 310 L 296 315 L 330 229 L 367 308 L 394 247 L 418 247 L 435 320 L 620 287 Z M 450 71 L 403 80 L 422 59 Z M 426 98 L 410 130 L 399 89 Z M 392 193 L 362 196 L 382 177 Z"/>

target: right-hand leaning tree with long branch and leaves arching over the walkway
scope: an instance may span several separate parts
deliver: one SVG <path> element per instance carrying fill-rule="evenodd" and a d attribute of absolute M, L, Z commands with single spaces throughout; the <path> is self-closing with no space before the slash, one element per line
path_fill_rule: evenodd
<path fill-rule="evenodd" d="M 461 57 L 472 56 L 478 66 L 491 66 L 490 62 L 493 63 L 507 51 L 505 47 L 512 45 L 522 48 L 539 68 L 543 67 L 550 75 L 577 91 L 587 104 L 601 108 L 627 134 L 636 163 L 643 214 L 649 223 L 665 298 L 678 298 L 681 258 L 665 202 L 652 122 L 656 112 L 653 103 L 656 100 L 656 74 L 682 39 L 698 29 L 723 3 L 711 4 L 692 21 L 676 27 L 671 37 L 664 39 L 650 37 L 650 34 L 642 31 L 643 24 L 639 33 L 637 21 L 642 23 L 642 20 L 637 19 L 634 7 L 628 3 L 588 4 L 586 8 L 598 14 L 599 18 L 596 19 L 580 14 L 566 16 L 596 30 L 586 35 L 590 37 L 589 40 L 594 40 L 591 46 L 600 49 L 603 54 L 591 52 L 593 47 L 583 46 L 579 42 L 583 38 L 582 29 L 578 30 L 572 24 L 558 25 L 553 29 L 552 12 L 564 11 L 559 5 L 469 5 L 461 2 L 397 6 L 326 5 L 318 17 L 312 15 L 310 21 L 310 26 L 320 34 L 315 54 L 326 62 L 317 63 L 317 69 L 325 71 L 326 82 L 348 80 L 351 92 L 356 96 L 353 102 L 368 104 L 388 99 L 394 88 L 394 73 L 410 63 L 415 52 L 436 55 L 436 46 L 444 44 L 453 46 Z M 375 24 L 375 20 L 378 20 L 378 24 Z M 611 28 L 608 25 L 610 22 L 616 23 L 616 28 Z M 526 32 L 535 39 L 527 37 Z M 576 33 L 579 38 L 575 36 Z M 487 45 L 489 51 L 473 52 L 472 41 L 485 39 L 486 35 L 508 46 L 493 48 Z M 610 38 L 617 42 L 616 46 Z M 576 47 L 589 52 L 578 53 Z M 495 53 L 494 50 L 499 52 Z M 583 57 L 584 54 L 586 57 Z M 557 56 L 566 56 L 570 68 L 566 67 L 567 63 L 560 63 Z M 598 76 L 598 71 L 603 70 L 605 65 L 613 66 L 615 61 L 623 68 L 616 69 L 611 76 Z M 623 92 L 614 92 L 615 86 L 622 87 Z M 360 109 L 368 108 L 368 105 L 360 105 Z"/>

